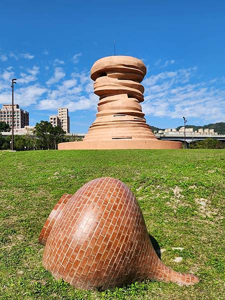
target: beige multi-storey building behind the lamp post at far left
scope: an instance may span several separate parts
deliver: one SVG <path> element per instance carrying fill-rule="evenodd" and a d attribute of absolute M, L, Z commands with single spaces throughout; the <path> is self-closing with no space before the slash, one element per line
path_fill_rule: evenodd
<path fill-rule="evenodd" d="M 19 108 L 18 104 L 13 105 L 14 108 L 14 129 L 24 128 L 29 125 L 29 112 Z M 0 108 L 0 121 L 12 125 L 12 105 L 3 104 Z"/>

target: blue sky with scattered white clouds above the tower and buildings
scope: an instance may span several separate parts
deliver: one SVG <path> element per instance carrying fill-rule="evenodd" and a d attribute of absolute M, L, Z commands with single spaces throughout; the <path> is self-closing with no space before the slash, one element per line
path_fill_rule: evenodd
<path fill-rule="evenodd" d="M 39 0 L 0 5 L 0 105 L 29 111 L 30 124 L 68 107 L 72 132 L 86 132 L 98 97 L 89 70 L 100 57 L 142 59 L 148 124 L 224 121 L 224 0 Z"/>

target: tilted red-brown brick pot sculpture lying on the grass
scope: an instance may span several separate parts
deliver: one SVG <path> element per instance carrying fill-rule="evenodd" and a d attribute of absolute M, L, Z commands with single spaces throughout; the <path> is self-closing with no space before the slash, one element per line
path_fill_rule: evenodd
<path fill-rule="evenodd" d="M 144 279 L 198 282 L 161 262 L 135 196 L 114 178 L 97 178 L 74 195 L 64 194 L 39 241 L 45 244 L 43 266 L 76 288 L 106 289 Z"/>

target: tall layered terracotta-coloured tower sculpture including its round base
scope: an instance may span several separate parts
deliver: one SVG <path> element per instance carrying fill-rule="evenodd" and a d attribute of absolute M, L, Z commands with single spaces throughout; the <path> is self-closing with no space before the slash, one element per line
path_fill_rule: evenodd
<path fill-rule="evenodd" d="M 94 62 L 90 77 L 99 96 L 95 121 L 83 141 L 59 143 L 58 149 L 177 149 L 182 143 L 158 140 L 146 124 L 140 103 L 144 63 L 131 56 L 108 56 Z"/>

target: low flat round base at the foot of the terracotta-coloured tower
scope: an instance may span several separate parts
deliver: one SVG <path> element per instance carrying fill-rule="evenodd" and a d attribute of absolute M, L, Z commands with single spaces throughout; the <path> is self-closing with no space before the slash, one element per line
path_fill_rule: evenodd
<path fill-rule="evenodd" d="M 113 139 L 101 141 L 69 141 L 58 144 L 58 150 L 94 150 L 94 149 L 181 149 L 181 141 L 148 139 Z"/>

